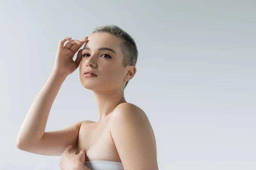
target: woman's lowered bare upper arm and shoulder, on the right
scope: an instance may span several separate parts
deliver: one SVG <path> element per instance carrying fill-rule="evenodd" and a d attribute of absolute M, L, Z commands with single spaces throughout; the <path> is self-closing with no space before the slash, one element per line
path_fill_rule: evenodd
<path fill-rule="evenodd" d="M 157 169 L 154 132 L 141 108 L 131 103 L 116 106 L 110 132 L 124 169 Z"/>

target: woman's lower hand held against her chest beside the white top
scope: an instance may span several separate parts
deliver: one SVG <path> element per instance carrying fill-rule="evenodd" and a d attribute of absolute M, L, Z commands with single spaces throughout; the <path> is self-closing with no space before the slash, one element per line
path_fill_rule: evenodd
<path fill-rule="evenodd" d="M 78 165 L 84 165 L 86 150 L 82 149 L 79 154 L 75 155 L 70 153 L 71 149 L 72 145 L 67 147 L 64 150 L 64 153 L 62 153 L 61 155 L 61 160 L 59 164 L 61 170 L 75 170 L 77 169 Z"/>

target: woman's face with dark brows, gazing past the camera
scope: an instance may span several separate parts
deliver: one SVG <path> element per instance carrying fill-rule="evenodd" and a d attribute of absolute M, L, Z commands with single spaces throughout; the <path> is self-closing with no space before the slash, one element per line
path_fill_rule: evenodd
<path fill-rule="evenodd" d="M 93 33 L 82 50 L 80 80 L 84 88 L 100 91 L 120 88 L 125 84 L 127 67 L 122 66 L 121 40 L 108 33 Z M 96 77 L 85 77 L 93 71 Z"/>

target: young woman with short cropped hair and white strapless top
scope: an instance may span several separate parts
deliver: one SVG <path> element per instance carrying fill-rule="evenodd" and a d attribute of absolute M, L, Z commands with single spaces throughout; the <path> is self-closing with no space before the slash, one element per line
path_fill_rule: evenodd
<path fill-rule="evenodd" d="M 148 117 L 124 97 L 128 81 L 136 74 L 137 56 L 134 39 L 113 25 L 98 27 L 80 41 L 62 39 L 49 79 L 20 128 L 17 147 L 61 156 L 61 170 L 158 170 L 156 140 Z M 99 121 L 84 120 L 45 132 L 62 83 L 79 65 L 81 84 L 95 94 Z"/>

